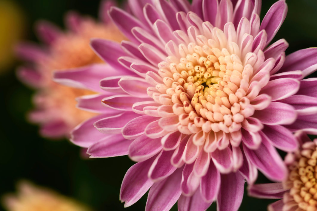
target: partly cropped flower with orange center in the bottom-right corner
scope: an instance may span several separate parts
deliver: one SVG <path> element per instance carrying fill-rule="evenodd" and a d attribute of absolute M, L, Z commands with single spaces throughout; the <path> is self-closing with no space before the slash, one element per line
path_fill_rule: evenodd
<path fill-rule="evenodd" d="M 268 206 L 269 211 L 317 210 L 317 139 L 296 134 L 301 146 L 285 157 L 288 177 L 283 183 L 254 184 L 249 194 L 259 198 L 281 199 Z"/>

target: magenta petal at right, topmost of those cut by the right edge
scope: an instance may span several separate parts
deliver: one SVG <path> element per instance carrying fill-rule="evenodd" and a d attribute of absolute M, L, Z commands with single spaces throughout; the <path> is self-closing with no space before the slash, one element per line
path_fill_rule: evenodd
<path fill-rule="evenodd" d="M 317 48 L 306 48 L 289 54 L 280 72 L 301 70 L 304 77 L 317 69 Z"/>

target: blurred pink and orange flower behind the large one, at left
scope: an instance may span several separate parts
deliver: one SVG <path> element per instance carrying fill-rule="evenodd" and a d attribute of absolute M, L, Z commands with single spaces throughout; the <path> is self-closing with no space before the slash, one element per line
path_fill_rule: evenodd
<path fill-rule="evenodd" d="M 40 133 L 45 137 L 61 138 L 69 136 L 72 128 L 80 122 L 96 115 L 95 111 L 83 111 L 75 108 L 75 98 L 94 93 L 62 86 L 52 81 L 52 71 L 76 68 L 102 60 L 90 48 L 91 38 L 104 38 L 120 42 L 124 36 L 109 22 L 107 9 L 113 5 L 104 2 L 100 10 L 103 23 L 97 23 L 89 17 L 80 17 L 74 12 L 67 15 L 67 32 L 48 22 L 39 22 L 36 29 L 45 42 L 44 47 L 31 43 L 21 43 L 17 47 L 18 55 L 31 62 L 18 70 L 18 77 L 35 87 L 38 92 L 34 97 L 36 109 L 29 115 L 32 122 L 40 123 Z"/>

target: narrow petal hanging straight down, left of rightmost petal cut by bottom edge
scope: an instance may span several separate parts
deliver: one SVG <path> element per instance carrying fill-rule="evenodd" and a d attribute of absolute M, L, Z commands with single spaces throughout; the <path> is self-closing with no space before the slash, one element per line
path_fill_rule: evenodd
<path fill-rule="evenodd" d="M 216 199 L 220 182 L 220 172 L 211 162 L 206 175 L 200 180 L 200 194 L 205 202 L 213 202 Z"/>

